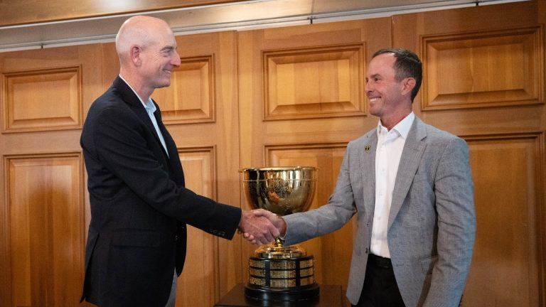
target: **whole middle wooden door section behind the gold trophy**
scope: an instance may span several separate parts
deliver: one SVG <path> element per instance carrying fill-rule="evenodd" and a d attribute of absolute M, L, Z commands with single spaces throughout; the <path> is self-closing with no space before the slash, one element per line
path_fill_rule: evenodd
<path fill-rule="evenodd" d="M 377 124 L 367 114 L 365 65 L 391 45 L 390 29 L 390 18 L 377 18 L 240 32 L 241 165 L 317 166 L 312 208 L 327 203 L 347 142 Z M 346 289 L 352 237 L 351 222 L 301 244 L 319 284 Z M 254 251 L 243 252 L 245 280 Z"/>

